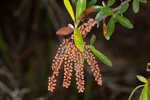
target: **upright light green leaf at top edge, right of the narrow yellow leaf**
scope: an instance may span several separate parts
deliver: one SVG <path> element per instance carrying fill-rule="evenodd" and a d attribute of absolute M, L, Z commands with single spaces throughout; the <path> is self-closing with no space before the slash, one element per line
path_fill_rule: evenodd
<path fill-rule="evenodd" d="M 86 8 L 86 0 L 78 0 L 76 6 L 76 19 L 83 13 Z"/>

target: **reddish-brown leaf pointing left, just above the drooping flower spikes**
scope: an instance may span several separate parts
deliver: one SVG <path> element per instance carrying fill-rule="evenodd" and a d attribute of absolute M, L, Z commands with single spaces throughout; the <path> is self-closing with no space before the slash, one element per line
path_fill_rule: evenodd
<path fill-rule="evenodd" d="M 69 35 L 72 32 L 73 32 L 73 29 L 71 27 L 62 27 L 56 32 L 56 34 L 57 35 Z"/>

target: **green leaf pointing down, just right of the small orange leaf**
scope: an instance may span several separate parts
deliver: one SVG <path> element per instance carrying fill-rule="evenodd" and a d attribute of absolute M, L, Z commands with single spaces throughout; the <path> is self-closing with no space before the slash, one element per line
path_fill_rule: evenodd
<path fill-rule="evenodd" d="M 112 33 L 115 30 L 115 23 L 116 23 L 116 19 L 115 16 L 112 16 L 107 24 L 107 33 L 105 35 L 106 40 L 110 39 L 110 36 L 112 35 Z"/>

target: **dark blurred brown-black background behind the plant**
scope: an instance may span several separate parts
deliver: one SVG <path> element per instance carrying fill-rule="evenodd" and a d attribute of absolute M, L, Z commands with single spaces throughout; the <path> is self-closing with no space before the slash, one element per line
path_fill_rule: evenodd
<path fill-rule="evenodd" d="M 145 69 L 150 62 L 150 2 L 141 4 L 138 14 L 130 5 L 124 15 L 134 29 L 116 24 L 109 41 L 103 37 L 102 29 L 91 31 L 97 36 L 95 47 L 113 63 L 110 68 L 99 61 L 103 86 L 86 74 L 85 93 L 78 94 L 74 81 L 69 89 L 62 88 L 61 71 L 56 91 L 48 93 L 50 65 L 63 38 L 55 32 L 71 23 L 63 1 L 1 0 L 0 100 L 127 100 L 132 89 L 142 84 L 136 75 L 149 77 Z M 90 36 L 89 33 L 87 41 Z M 139 93 L 133 100 L 138 99 Z"/>

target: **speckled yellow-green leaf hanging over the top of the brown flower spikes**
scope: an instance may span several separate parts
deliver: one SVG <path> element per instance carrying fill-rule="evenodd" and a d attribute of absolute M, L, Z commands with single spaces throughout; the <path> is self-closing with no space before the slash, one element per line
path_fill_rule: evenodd
<path fill-rule="evenodd" d="M 75 28 L 74 29 L 74 43 L 76 45 L 76 47 L 81 51 L 83 52 L 84 51 L 84 42 L 83 42 L 83 38 L 82 38 L 82 35 L 79 31 L 78 28 Z"/>

